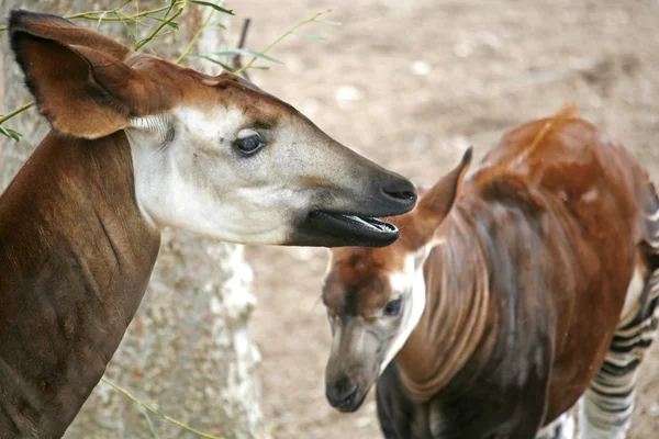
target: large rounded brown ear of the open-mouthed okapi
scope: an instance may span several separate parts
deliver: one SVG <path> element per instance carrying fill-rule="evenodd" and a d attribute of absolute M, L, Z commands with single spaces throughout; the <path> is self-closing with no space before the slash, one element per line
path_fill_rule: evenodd
<path fill-rule="evenodd" d="M 64 19 L 24 11 L 11 12 L 9 31 L 27 88 L 55 130 L 97 138 L 126 127 L 136 109 L 157 110 L 144 102 L 157 81 L 118 58 L 131 53 L 119 43 Z"/>

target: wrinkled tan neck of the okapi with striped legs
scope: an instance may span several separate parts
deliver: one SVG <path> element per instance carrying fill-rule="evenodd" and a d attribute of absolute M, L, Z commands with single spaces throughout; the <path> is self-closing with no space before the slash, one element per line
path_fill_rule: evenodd
<path fill-rule="evenodd" d="M 424 313 L 395 358 L 407 394 L 418 403 L 456 378 L 481 347 L 492 317 L 482 248 L 459 214 L 450 222 L 446 241 L 424 266 Z"/>

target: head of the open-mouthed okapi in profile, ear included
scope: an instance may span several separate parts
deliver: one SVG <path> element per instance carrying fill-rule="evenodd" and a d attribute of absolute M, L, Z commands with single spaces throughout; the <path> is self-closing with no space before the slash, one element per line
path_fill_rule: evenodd
<path fill-rule="evenodd" d="M 234 75 L 137 54 L 56 15 L 12 11 L 9 30 L 54 130 L 86 139 L 125 132 L 137 204 L 157 228 L 241 244 L 379 247 L 399 232 L 375 217 L 416 202 L 410 181 Z"/>

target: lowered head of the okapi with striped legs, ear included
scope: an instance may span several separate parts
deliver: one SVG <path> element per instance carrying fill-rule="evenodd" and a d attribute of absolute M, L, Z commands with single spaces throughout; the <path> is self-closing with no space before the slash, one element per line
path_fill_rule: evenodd
<path fill-rule="evenodd" d="M 432 189 L 420 191 L 416 209 L 393 219 L 401 230 L 393 245 L 332 250 L 323 303 L 333 336 L 326 396 L 335 408 L 359 408 L 418 323 L 426 302 L 423 266 L 446 234 L 444 219 L 470 161 L 471 148 Z"/>

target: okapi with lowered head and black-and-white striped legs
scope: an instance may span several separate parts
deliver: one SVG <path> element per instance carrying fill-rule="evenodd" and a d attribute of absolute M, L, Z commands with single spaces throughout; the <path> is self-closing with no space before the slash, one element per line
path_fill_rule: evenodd
<path fill-rule="evenodd" d="M 646 171 L 568 108 L 507 133 L 395 219 L 332 251 L 326 396 L 378 380 L 388 439 L 624 438 L 657 333 L 659 202 Z M 545 427 L 540 430 L 541 427 Z"/>

